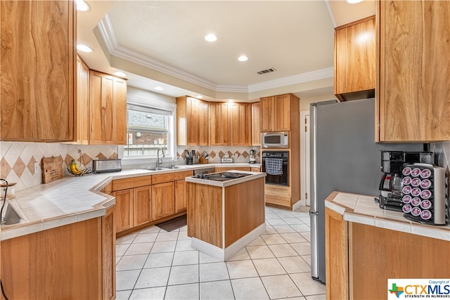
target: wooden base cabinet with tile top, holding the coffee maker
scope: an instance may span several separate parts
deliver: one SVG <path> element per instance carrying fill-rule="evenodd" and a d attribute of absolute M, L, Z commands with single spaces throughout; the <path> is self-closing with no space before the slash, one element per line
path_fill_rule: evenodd
<path fill-rule="evenodd" d="M 386 299 L 388 279 L 448 280 L 450 226 L 409 221 L 373 199 L 333 192 L 325 202 L 327 299 Z"/>

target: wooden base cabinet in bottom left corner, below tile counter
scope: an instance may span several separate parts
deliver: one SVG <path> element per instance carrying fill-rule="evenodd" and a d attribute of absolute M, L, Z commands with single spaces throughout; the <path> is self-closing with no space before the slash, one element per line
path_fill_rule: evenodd
<path fill-rule="evenodd" d="M 8 298 L 114 299 L 114 213 L 2 240 Z"/>

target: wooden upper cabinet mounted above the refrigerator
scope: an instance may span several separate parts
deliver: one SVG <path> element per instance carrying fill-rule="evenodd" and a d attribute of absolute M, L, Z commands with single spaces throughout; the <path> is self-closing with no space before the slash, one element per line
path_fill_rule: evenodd
<path fill-rule="evenodd" d="M 335 28 L 335 95 L 340 100 L 375 96 L 375 15 Z"/>

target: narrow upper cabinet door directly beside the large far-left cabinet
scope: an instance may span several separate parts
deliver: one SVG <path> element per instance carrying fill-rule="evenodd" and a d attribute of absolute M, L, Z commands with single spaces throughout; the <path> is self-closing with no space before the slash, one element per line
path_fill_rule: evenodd
<path fill-rule="evenodd" d="M 89 143 L 89 67 L 77 56 L 77 101 L 75 105 L 75 142 Z"/>

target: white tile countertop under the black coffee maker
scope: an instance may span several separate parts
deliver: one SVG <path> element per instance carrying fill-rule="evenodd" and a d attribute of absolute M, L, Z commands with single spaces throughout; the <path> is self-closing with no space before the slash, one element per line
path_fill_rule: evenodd
<path fill-rule="evenodd" d="M 409 221 L 402 212 L 380 209 L 373 196 L 333 192 L 326 199 L 325 207 L 342 214 L 345 221 L 450 241 L 450 225 Z"/>

